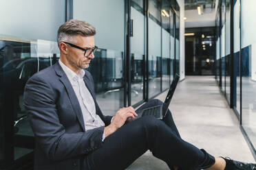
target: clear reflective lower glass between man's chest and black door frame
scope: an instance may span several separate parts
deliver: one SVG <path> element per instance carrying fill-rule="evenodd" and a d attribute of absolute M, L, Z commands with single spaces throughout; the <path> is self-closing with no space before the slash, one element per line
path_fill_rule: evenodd
<path fill-rule="evenodd" d="M 94 78 L 98 105 L 105 115 L 114 115 L 124 106 L 123 53 L 97 49 L 87 69 Z"/>

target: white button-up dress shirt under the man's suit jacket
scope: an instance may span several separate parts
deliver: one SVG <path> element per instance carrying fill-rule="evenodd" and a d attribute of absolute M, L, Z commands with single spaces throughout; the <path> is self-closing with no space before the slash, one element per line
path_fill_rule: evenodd
<path fill-rule="evenodd" d="M 61 60 L 58 60 L 58 62 L 61 65 L 65 74 L 67 75 L 68 80 L 70 80 L 74 92 L 76 93 L 76 97 L 83 113 L 85 131 L 92 130 L 96 127 L 105 126 L 103 120 L 101 120 L 98 114 L 96 114 L 94 99 L 92 98 L 91 93 L 89 93 L 89 90 L 87 86 L 85 86 L 85 82 L 83 81 L 85 71 L 81 69 L 77 75 L 76 73 L 74 73 L 74 71 L 65 66 L 65 64 L 63 64 Z M 104 139 L 105 132 L 103 133 L 103 140 Z"/>

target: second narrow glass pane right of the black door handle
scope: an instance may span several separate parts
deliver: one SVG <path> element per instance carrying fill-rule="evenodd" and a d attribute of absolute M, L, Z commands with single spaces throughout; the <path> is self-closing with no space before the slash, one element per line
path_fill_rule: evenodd
<path fill-rule="evenodd" d="M 149 98 L 161 91 L 160 2 L 149 0 Z"/>

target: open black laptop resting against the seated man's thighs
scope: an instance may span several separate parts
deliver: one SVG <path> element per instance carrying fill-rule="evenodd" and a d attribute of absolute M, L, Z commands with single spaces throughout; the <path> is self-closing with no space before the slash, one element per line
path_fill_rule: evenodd
<path fill-rule="evenodd" d="M 170 86 L 169 91 L 167 93 L 167 97 L 164 100 L 164 104 L 162 104 L 160 106 L 154 106 L 152 108 L 145 108 L 143 110 L 140 110 L 137 113 L 138 118 L 149 116 L 149 115 L 151 115 L 153 117 L 156 117 L 158 119 L 162 119 L 163 117 L 165 117 L 165 114 L 167 114 L 167 110 L 168 110 L 169 105 L 171 103 L 171 98 L 173 97 L 173 93 L 175 91 L 175 88 L 176 88 L 179 80 L 180 80 L 180 75 L 175 74 L 174 78 L 173 78 L 173 82 L 171 82 L 171 86 Z"/>

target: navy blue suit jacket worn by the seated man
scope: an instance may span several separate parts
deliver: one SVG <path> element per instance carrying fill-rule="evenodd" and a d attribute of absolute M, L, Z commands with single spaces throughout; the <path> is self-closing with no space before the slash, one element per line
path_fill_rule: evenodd
<path fill-rule="evenodd" d="M 96 114 L 109 125 L 111 117 L 100 111 L 88 71 L 84 82 L 94 98 Z M 28 80 L 24 104 L 36 141 L 34 170 L 83 169 L 85 156 L 102 147 L 104 127 L 85 132 L 78 99 L 58 62 Z"/>

